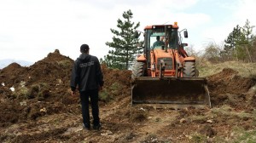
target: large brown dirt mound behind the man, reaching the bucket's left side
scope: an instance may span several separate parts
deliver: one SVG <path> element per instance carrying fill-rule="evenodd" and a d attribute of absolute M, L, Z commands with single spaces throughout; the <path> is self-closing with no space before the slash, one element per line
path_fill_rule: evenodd
<path fill-rule="evenodd" d="M 79 112 L 79 97 L 71 96 L 69 91 L 73 62 L 56 49 L 32 66 L 22 67 L 13 63 L 3 68 L 0 73 L 0 83 L 4 83 L 0 89 L 0 107 L 3 109 L 0 125 L 35 120 L 59 112 Z M 102 66 L 102 72 L 104 93 L 111 96 L 105 97 L 104 101 L 119 100 L 119 96 L 130 92 L 130 76 L 127 76 L 131 75 L 130 71 Z M 10 91 L 11 87 L 14 92 Z"/>

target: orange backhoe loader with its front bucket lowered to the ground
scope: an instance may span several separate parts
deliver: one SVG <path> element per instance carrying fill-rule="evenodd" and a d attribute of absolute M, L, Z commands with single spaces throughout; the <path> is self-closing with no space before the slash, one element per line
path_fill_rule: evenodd
<path fill-rule="evenodd" d="M 144 28 L 143 54 L 137 55 L 132 66 L 132 104 L 211 107 L 206 78 L 198 77 L 195 58 L 183 49 L 187 43 L 182 43 L 181 32 L 177 22 Z M 188 37 L 186 29 L 183 37 Z"/>

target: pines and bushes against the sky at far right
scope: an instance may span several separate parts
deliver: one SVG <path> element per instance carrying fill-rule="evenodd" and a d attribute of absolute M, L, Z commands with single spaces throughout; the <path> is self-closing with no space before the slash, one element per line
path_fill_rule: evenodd
<path fill-rule="evenodd" d="M 208 43 L 203 56 L 212 62 L 240 60 L 256 61 L 256 37 L 253 35 L 254 26 L 246 20 L 244 26 L 236 25 L 229 36 L 224 39 L 224 45 Z"/>

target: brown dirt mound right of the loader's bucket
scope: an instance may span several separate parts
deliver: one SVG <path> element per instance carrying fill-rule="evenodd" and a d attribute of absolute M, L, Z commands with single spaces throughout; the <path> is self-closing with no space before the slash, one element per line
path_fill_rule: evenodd
<path fill-rule="evenodd" d="M 255 80 L 238 76 L 238 72 L 224 68 L 222 72 L 208 77 L 212 106 L 228 104 L 234 107 L 247 107 L 247 100 L 251 98 L 247 91 L 255 85 Z"/>

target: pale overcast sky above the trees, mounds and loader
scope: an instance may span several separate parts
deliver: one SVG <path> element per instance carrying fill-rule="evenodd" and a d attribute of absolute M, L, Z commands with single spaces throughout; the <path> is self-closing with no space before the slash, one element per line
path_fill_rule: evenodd
<path fill-rule="evenodd" d="M 183 43 L 199 51 L 209 42 L 223 43 L 247 19 L 256 26 L 255 6 L 255 0 L 0 0 L 0 60 L 36 62 L 55 49 L 75 60 L 82 43 L 103 58 L 110 28 L 118 30 L 117 20 L 129 9 L 140 31 L 177 21 L 189 31 Z"/>

